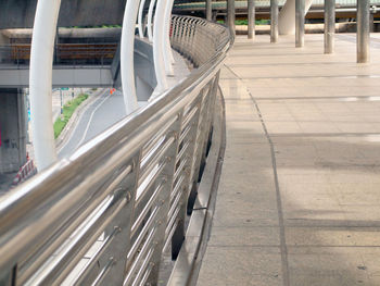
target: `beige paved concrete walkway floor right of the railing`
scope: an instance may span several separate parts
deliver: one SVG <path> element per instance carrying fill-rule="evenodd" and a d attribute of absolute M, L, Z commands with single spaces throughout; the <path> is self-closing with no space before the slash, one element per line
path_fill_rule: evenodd
<path fill-rule="evenodd" d="M 380 285 L 380 37 L 238 37 L 227 147 L 198 285 Z"/>

